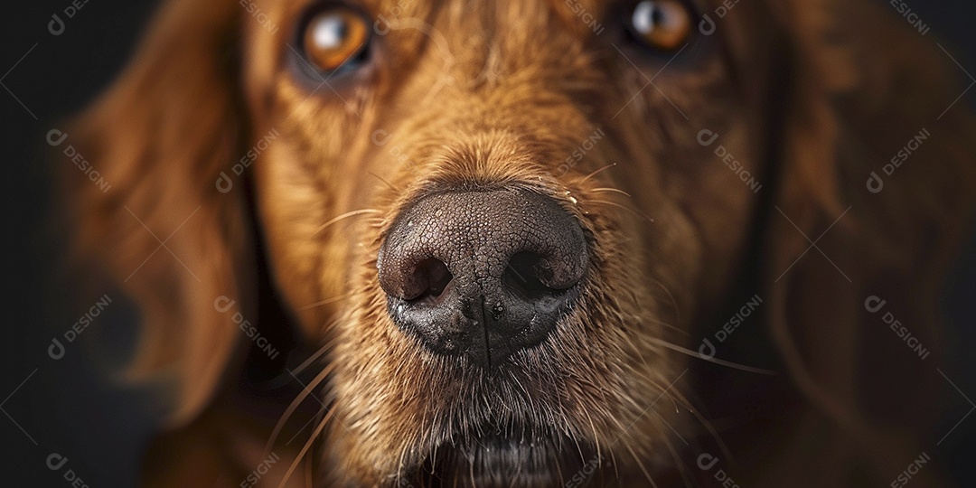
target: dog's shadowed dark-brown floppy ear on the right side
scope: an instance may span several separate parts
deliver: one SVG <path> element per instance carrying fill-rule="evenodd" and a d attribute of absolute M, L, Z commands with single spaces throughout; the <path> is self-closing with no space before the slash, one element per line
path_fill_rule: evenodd
<path fill-rule="evenodd" d="M 792 88 L 763 252 L 768 312 L 819 419 L 797 437 L 828 439 L 823 458 L 794 454 L 839 479 L 889 476 L 919 456 L 909 446 L 945 385 L 936 298 L 973 215 L 976 127 L 966 102 L 954 105 L 961 70 L 886 3 L 797 0 L 779 12 Z"/>

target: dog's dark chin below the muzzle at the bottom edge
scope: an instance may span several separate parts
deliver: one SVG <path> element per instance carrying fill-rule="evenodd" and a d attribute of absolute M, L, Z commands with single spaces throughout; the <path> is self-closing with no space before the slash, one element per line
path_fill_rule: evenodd
<path fill-rule="evenodd" d="M 556 486 L 597 466 L 588 442 L 557 435 L 526 434 L 530 429 L 494 427 L 437 446 L 417 469 L 421 486 Z M 521 431 L 519 431 L 521 430 Z"/>

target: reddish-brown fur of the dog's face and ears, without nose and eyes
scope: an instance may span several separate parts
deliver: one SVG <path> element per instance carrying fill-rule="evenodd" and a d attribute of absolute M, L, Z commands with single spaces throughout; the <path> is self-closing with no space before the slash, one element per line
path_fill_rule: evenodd
<path fill-rule="evenodd" d="M 396 5 L 373 3 L 364 10 L 374 16 Z M 781 402 L 775 429 L 741 420 L 721 435 L 737 480 L 841 486 L 857 484 L 856 471 L 887 483 L 915 457 L 927 419 L 912 405 L 874 400 L 934 382 L 908 372 L 898 385 L 880 375 L 860 384 L 874 334 L 862 304 L 884 290 L 903 321 L 928 324 L 934 340 L 935 293 L 974 203 L 966 189 L 976 131 L 961 102 L 935 122 L 959 93 L 945 81 L 955 75 L 890 13 L 868 2 L 743 2 L 696 58 L 660 71 L 667 58 L 648 61 L 617 42 L 619 52 L 609 29 L 594 39 L 563 2 L 415 1 L 402 28 L 380 40 L 375 68 L 309 95 L 282 61 L 304 2 L 258 5 L 276 33 L 236 2 L 171 1 L 72 133 L 112 183 L 107 194 L 73 188 L 79 255 L 142 306 L 132 374 L 173 381 L 176 430 L 151 451 L 150 481 L 175 483 L 166 476 L 203 464 L 209 472 L 193 479 L 236 485 L 263 459 L 224 452 L 263 442 L 271 425 L 230 414 L 241 400 L 226 379 L 247 345 L 230 313 L 212 305 L 227 296 L 244 315 L 257 313 L 256 232 L 306 341 L 327 348 L 318 368 L 331 373 L 319 376 L 328 422 L 299 470 L 320 483 L 394 481 L 465 426 L 499 420 L 591 442 L 625 479 L 671 479 L 683 466 L 672 429 L 705 431 L 686 393 L 707 392 L 683 376 L 696 359 L 669 345 L 696 346 L 684 331 L 701 335 L 696 327 L 735 289 L 750 251 L 761 253 L 756 279 L 794 394 L 764 399 Z M 631 100 L 656 73 L 656 87 Z M 777 110 L 783 119 L 772 127 Z M 922 126 L 932 141 L 896 181 L 868 193 L 870 172 Z M 604 140 L 558 174 L 597 128 Z M 226 194 L 214 183 L 271 129 L 280 137 L 249 177 L 261 227 L 251 229 L 243 179 Z M 765 233 L 753 235 L 763 228 L 753 226 L 761 197 L 697 142 L 702 129 L 764 177 L 760 193 L 775 191 L 768 202 L 802 234 L 767 208 Z M 379 245 L 398 212 L 431 187 L 459 184 L 550 195 L 593 236 L 578 312 L 513 356 L 521 369 L 501 381 L 405 336 L 377 282 Z M 803 234 L 815 239 L 849 206 L 819 245 L 852 283 L 812 254 L 780 279 L 807 249 Z M 160 239 L 172 233 L 168 245 L 187 269 L 159 253 L 129 278 L 157 246 L 130 213 Z M 900 371 L 894 359 L 871 361 Z M 820 444 L 802 448 L 812 437 Z M 273 449 L 297 458 L 281 440 Z M 212 462 L 187 447 L 201 445 Z M 237 461 L 220 461 L 228 458 Z"/>

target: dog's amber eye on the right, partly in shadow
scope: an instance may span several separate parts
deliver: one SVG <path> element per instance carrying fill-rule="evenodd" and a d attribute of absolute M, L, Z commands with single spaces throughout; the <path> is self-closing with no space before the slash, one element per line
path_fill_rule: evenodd
<path fill-rule="evenodd" d="M 645 0 L 633 7 L 630 31 L 651 49 L 673 51 L 688 40 L 692 13 L 678 0 Z"/>

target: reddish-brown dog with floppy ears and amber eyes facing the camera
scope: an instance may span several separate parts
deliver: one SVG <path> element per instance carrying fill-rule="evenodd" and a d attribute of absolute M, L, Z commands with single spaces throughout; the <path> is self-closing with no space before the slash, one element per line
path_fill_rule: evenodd
<path fill-rule="evenodd" d="M 944 382 L 887 322 L 938 356 L 976 203 L 899 12 L 166 2 L 64 177 L 144 483 L 891 483 Z"/>

